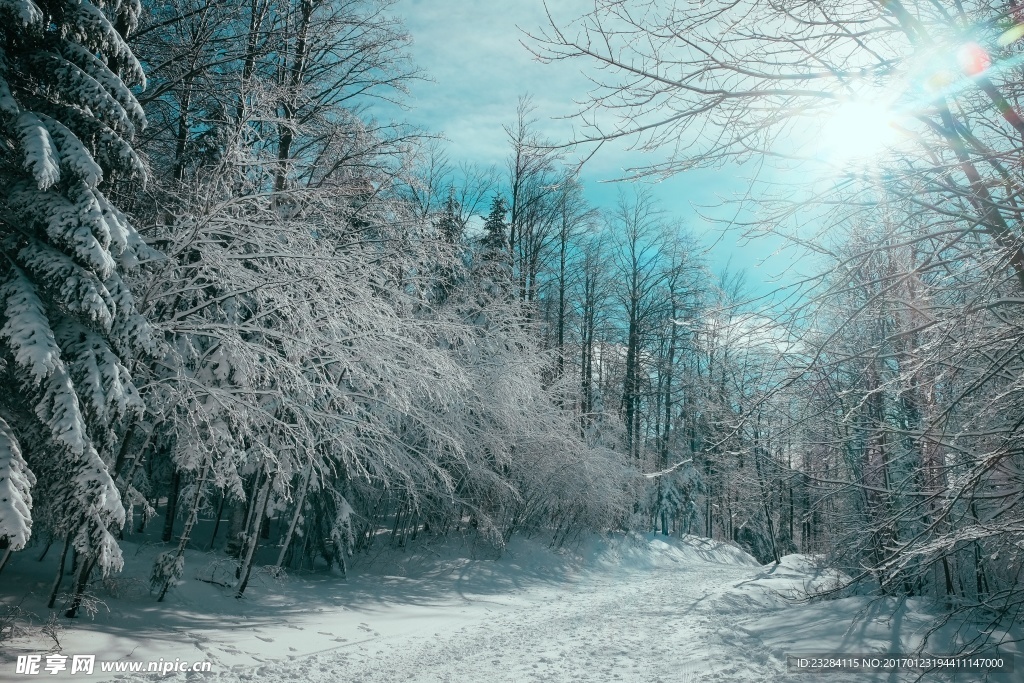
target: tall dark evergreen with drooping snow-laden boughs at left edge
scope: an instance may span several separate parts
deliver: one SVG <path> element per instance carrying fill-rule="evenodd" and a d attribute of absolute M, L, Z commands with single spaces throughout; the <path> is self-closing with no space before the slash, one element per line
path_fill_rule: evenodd
<path fill-rule="evenodd" d="M 152 344 L 119 275 L 151 252 L 104 196 L 145 176 L 128 142 L 144 75 L 124 39 L 139 12 L 0 0 L 0 548 L 22 549 L 33 521 L 73 547 L 69 616 L 94 569 L 122 564 L 109 463 L 143 410 L 126 365 Z"/>

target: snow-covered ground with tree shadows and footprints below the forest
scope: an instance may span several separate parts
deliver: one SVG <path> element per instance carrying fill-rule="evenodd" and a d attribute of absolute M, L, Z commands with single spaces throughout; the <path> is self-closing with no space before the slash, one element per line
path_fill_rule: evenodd
<path fill-rule="evenodd" d="M 130 546 L 129 546 L 130 547 Z M 910 674 L 791 674 L 786 653 L 899 652 L 920 642 L 921 605 L 863 597 L 802 604 L 798 589 L 835 578 L 806 558 L 760 566 L 739 550 L 689 538 L 593 542 L 574 556 L 515 543 L 499 560 L 401 556 L 364 562 L 348 582 L 258 577 L 247 598 L 217 580 L 216 556 L 189 558 L 189 578 L 158 605 L 128 580 L 97 591 L 110 611 L 60 635 L 62 653 L 97 660 L 211 663 L 208 674 L 15 674 L 45 652 L 26 632 L 0 649 L 0 681 L 902 681 Z M 459 549 L 455 549 L 459 550 Z M 461 549 L 470 554 L 469 549 Z M 156 549 L 133 558 L 143 568 Z M 429 555 L 429 553 L 428 553 Z M 29 562 L 8 582 L 35 594 Z M 383 568 L 387 566 L 385 571 Z M 13 571 L 11 571 L 13 569 Z M 129 565 L 131 572 L 133 567 Z M 226 565 L 225 565 L 226 570 Z M 20 573 L 18 573 L 20 572 Z M 38 570 L 37 570 L 38 573 Z M 397 574 L 397 575 L 396 575 Z M 136 574 L 138 575 L 138 574 Z M 226 579 L 226 577 L 224 577 Z M 119 593 L 115 597 L 111 591 Z M 15 592 L 16 593 L 16 592 Z M 45 594 L 45 590 L 42 591 Z M 24 597 L 24 594 L 23 594 Z M 35 595 L 23 601 L 35 606 Z M 42 613 L 39 610 L 38 613 Z M 1021 666 L 1024 658 L 1018 657 Z M 981 680 L 978 674 L 957 680 Z M 929 675 L 925 680 L 944 680 Z M 1014 674 L 991 680 L 1020 680 Z"/>

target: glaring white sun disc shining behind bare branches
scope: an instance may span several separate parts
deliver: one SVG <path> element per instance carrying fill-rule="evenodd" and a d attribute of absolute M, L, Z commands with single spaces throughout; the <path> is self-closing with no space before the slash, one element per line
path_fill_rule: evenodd
<path fill-rule="evenodd" d="M 819 154 L 843 167 L 869 164 L 896 142 L 895 123 L 893 112 L 880 102 L 842 102 L 822 126 Z"/>

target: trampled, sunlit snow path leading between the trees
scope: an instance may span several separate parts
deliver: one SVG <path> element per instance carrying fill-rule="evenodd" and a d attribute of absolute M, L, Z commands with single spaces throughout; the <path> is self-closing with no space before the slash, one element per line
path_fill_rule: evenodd
<path fill-rule="evenodd" d="M 266 672 L 309 681 L 734 681 L 775 680 L 783 665 L 727 634 L 750 614 L 723 593 L 756 571 L 656 567 L 645 577 L 591 577 L 529 596 L 474 624 L 367 644 Z M 333 671 L 332 671 L 333 670 Z"/>

